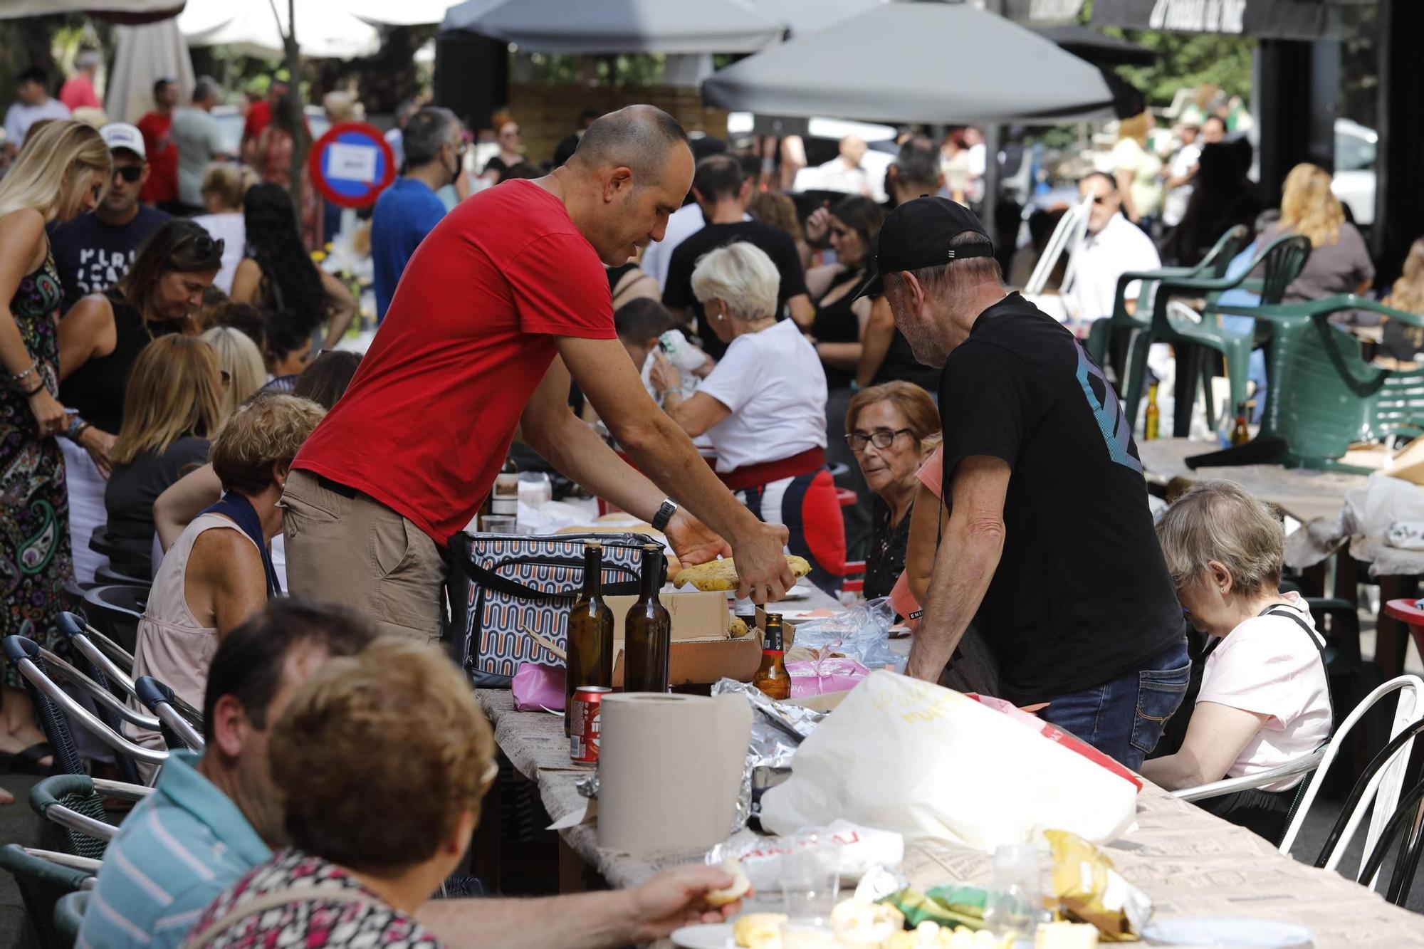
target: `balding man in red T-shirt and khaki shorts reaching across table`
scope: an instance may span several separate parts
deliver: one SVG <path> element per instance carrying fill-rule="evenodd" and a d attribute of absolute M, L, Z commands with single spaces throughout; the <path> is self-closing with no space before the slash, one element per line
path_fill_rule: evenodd
<path fill-rule="evenodd" d="M 631 105 L 595 121 L 562 168 L 481 191 L 436 225 L 350 388 L 292 463 L 292 593 L 355 606 L 387 633 L 437 637 L 441 549 L 474 517 L 520 429 L 568 477 L 664 529 L 679 559 L 702 563 L 731 541 L 739 596 L 780 598 L 793 583 L 786 529 L 760 523 L 718 480 L 614 332 L 604 265 L 661 241 L 691 184 L 682 127 Z M 644 473 L 570 412 L 570 373 Z"/>

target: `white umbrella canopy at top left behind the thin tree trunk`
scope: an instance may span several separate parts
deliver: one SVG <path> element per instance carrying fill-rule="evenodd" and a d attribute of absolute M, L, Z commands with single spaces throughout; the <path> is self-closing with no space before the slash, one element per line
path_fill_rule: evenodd
<path fill-rule="evenodd" d="M 349 60 L 380 48 L 376 27 L 353 16 L 343 0 L 296 0 L 296 43 L 302 56 Z M 188 0 L 178 28 L 189 46 L 235 46 L 251 56 L 282 56 L 286 0 Z"/>

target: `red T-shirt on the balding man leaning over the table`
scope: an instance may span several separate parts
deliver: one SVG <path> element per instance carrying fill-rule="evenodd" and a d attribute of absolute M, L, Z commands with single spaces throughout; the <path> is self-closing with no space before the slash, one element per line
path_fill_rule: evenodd
<path fill-rule="evenodd" d="M 615 338 L 598 254 L 537 184 L 481 191 L 416 248 L 293 467 L 365 492 L 444 546 L 494 484 L 555 336 Z"/>

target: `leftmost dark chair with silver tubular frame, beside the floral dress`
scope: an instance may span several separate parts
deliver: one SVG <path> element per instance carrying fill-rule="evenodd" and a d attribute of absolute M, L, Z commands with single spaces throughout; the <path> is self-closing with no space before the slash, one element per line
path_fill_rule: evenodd
<path fill-rule="evenodd" d="M 74 747 L 74 735 L 70 731 L 71 721 L 78 722 L 81 728 L 114 750 L 114 757 L 124 775 L 134 775 L 130 778 L 130 784 L 145 784 L 135 762 L 162 765 L 168 759 L 167 751 L 134 744 L 103 718 L 84 708 L 73 695 L 58 687 L 51 678 L 51 671 L 85 693 L 98 708 L 112 712 L 117 717 L 115 721 L 122 720 L 140 728 L 158 731 L 159 721 L 157 718 L 128 708 L 107 688 L 48 650 L 41 648 L 34 640 L 27 640 L 23 636 L 7 636 L 3 648 L 6 660 L 13 663 L 24 678 L 26 691 L 34 702 L 36 714 L 54 752 L 54 768 L 58 774 L 85 774 L 84 764 Z M 157 771 L 154 777 L 157 777 Z"/>

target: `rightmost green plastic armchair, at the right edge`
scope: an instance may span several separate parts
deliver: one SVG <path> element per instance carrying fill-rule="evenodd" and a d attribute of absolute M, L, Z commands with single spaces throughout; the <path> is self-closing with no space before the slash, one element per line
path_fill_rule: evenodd
<path fill-rule="evenodd" d="M 1304 304 L 1220 308 L 1222 313 L 1255 316 L 1270 326 L 1266 412 L 1250 443 L 1188 463 L 1277 463 L 1367 474 L 1367 469 L 1340 463 L 1351 443 L 1424 433 L 1424 368 L 1391 370 L 1366 362 L 1360 341 L 1330 322 L 1331 313 L 1353 309 L 1424 326 L 1418 313 L 1353 294 Z"/>

